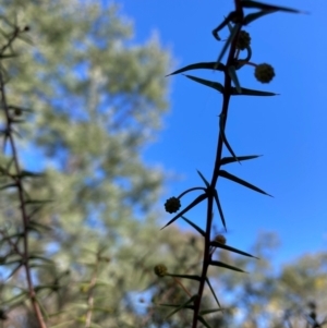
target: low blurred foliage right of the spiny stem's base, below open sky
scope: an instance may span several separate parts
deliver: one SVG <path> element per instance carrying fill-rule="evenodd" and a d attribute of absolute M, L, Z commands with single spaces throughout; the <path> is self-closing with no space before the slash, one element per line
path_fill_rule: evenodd
<path fill-rule="evenodd" d="M 218 294 L 226 300 L 222 318 L 228 327 L 313 327 L 307 319 L 312 303 L 317 305 L 319 320 L 327 318 L 327 253 L 303 255 L 276 268 L 278 245 L 277 235 L 263 233 L 251 250 L 257 260 L 219 253 L 221 259 L 247 272 L 219 275 Z"/>

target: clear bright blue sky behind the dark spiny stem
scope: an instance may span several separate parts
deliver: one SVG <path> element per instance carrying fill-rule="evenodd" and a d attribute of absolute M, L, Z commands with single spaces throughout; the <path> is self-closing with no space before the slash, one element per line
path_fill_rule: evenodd
<path fill-rule="evenodd" d="M 223 42 L 215 40 L 211 31 L 233 4 L 231 0 L 117 2 L 122 13 L 134 21 L 135 41 L 145 41 L 156 32 L 175 58 L 175 69 L 217 59 Z M 274 231 L 281 241 L 275 254 L 280 264 L 304 253 L 327 250 L 327 2 L 269 3 L 310 14 L 275 13 L 245 28 L 252 37 L 252 61 L 274 65 L 276 77 L 262 85 L 247 66 L 239 73 L 241 85 L 280 96 L 232 98 L 227 136 L 237 155 L 264 155 L 242 166 L 231 165 L 228 170 L 274 198 L 222 179 L 218 190 L 228 243 L 250 250 L 258 232 Z M 228 31 L 220 36 L 227 37 Z M 217 72 L 190 73 L 222 82 Z M 148 162 L 161 163 L 179 174 L 178 180 L 167 184 L 167 197 L 201 185 L 196 169 L 210 179 L 222 99 L 214 89 L 182 75 L 169 78 L 171 111 L 165 130 L 144 154 Z M 205 227 L 205 208 L 190 211 L 187 218 Z M 221 228 L 218 215 L 216 220 Z"/>

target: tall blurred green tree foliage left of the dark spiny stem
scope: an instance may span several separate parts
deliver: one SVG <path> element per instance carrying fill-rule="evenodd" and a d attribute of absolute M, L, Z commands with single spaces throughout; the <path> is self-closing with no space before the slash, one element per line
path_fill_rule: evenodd
<path fill-rule="evenodd" d="M 20 158 L 45 172 L 26 179 L 25 192 L 51 199 L 28 206 L 29 252 L 44 257 L 33 278 L 45 316 L 49 326 L 135 327 L 143 315 L 133 293 L 155 283 L 157 258 L 172 262 L 187 239 L 178 230 L 158 234 L 164 172 L 141 157 L 168 108 L 171 57 L 156 36 L 136 45 L 114 4 L 3 1 L 1 17 L 3 36 L 15 24 L 29 29 L 2 65 L 7 101 L 23 108 Z M 20 233 L 22 222 L 15 193 L 2 191 L 0 206 L 4 256 L 12 252 L 4 236 Z M 14 297 L 26 288 L 24 272 L 13 269 L 7 263 L 1 270 L 1 306 L 8 325 L 32 327 L 26 294 Z"/>

